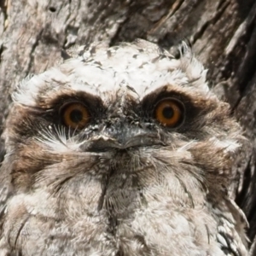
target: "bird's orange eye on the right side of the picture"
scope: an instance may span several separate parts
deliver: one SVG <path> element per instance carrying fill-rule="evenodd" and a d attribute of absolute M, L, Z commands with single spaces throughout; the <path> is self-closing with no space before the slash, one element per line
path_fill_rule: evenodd
<path fill-rule="evenodd" d="M 154 111 L 155 119 L 157 119 L 161 125 L 177 127 L 183 122 L 183 103 L 175 99 L 169 98 L 158 102 Z"/>

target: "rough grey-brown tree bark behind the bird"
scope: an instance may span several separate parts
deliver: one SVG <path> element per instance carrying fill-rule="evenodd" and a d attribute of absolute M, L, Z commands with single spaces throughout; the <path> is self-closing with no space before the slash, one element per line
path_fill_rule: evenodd
<path fill-rule="evenodd" d="M 251 146 L 234 164 L 230 193 L 256 230 L 255 111 L 256 2 L 254 0 L 0 0 L 0 132 L 10 93 L 30 73 L 43 72 L 61 49 L 105 40 L 144 38 L 177 53 L 189 39 L 208 68 L 216 93 L 230 102 Z M 0 146 L 3 158 L 4 145 Z"/>

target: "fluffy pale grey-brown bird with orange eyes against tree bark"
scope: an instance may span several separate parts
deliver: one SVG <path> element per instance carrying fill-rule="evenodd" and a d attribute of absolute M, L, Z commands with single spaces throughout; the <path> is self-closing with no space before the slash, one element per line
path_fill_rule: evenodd
<path fill-rule="evenodd" d="M 74 48 L 17 85 L 0 255 L 248 255 L 229 194 L 246 141 L 189 44 Z"/>

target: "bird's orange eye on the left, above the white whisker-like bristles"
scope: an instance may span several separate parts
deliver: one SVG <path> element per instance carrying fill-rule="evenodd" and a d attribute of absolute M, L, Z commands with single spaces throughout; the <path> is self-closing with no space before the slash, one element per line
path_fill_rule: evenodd
<path fill-rule="evenodd" d="M 64 125 L 73 129 L 82 129 L 90 121 L 89 111 L 79 102 L 68 104 L 61 111 L 61 117 Z"/>

